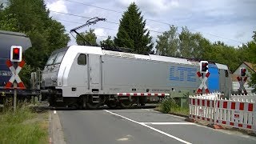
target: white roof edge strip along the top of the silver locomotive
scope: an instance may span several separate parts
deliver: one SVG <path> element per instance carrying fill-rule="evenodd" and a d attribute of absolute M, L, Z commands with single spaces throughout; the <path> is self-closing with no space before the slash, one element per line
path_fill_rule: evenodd
<path fill-rule="evenodd" d="M 120 51 L 111 51 L 111 50 L 102 50 L 99 46 L 70 46 L 70 51 L 74 53 L 86 53 L 86 54 L 99 54 L 99 55 L 111 55 L 116 57 L 122 58 L 138 58 L 138 59 L 146 59 L 146 60 L 154 60 L 160 62 L 174 62 L 180 63 L 185 65 L 196 65 L 199 66 L 199 62 L 190 61 L 186 58 L 174 58 L 174 57 L 166 57 L 160 55 L 142 55 L 142 54 L 131 54 L 131 53 L 124 53 Z M 226 65 L 215 63 L 218 69 L 228 70 Z"/>

